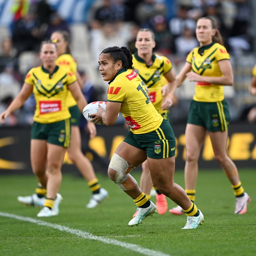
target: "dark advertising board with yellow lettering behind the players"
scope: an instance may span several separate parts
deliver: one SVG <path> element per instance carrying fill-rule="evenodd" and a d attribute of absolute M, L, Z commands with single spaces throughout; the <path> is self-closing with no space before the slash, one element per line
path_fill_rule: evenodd
<path fill-rule="evenodd" d="M 176 169 L 185 165 L 185 124 L 173 125 L 176 135 Z M 112 127 L 97 126 L 98 134 L 88 140 L 82 133 L 82 150 L 92 161 L 96 172 L 107 173 L 107 167 L 114 150 L 124 139 L 127 130 L 123 125 Z M 246 122 L 231 123 L 227 151 L 238 168 L 256 166 L 256 124 Z M 199 160 L 200 169 L 220 169 L 214 159 L 209 137 L 205 140 Z M 141 170 L 141 168 L 137 168 Z M 136 170 L 136 169 L 135 169 Z M 64 158 L 63 172 L 79 173 L 67 155 Z M 32 174 L 30 164 L 30 126 L 0 128 L 0 174 Z"/>

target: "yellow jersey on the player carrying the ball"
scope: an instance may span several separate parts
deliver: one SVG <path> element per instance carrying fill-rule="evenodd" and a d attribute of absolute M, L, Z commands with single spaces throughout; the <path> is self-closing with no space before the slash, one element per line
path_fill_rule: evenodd
<path fill-rule="evenodd" d="M 155 131 L 163 122 L 148 98 L 145 84 L 132 69 L 119 70 L 109 82 L 108 101 L 122 102 L 120 111 L 133 133 Z"/>

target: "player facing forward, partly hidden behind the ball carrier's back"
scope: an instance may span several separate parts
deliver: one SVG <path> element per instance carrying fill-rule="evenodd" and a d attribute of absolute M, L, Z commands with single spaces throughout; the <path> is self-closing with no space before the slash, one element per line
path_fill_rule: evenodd
<path fill-rule="evenodd" d="M 159 114 L 169 122 L 169 108 L 172 106 L 172 95 L 176 89 L 175 75 L 172 64 L 165 56 L 153 54 L 155 35 L 151 29 L 140 29 L 137 33 L 135 47 L 137 53 L 133 54 L 133 70 L 138 73 L 149 90 L 149 99 Z M 167 83 L 167 91 L 162 93 L 163 86 Z M 166 89 L 164 88 L 164 89 Z M 163 98 L 166 102 L 163 104 Z M 152 179 L 147 160 L 142 163 L 140 188 L 150 199 Z M 168 209 L 165 195 L 156 189 L 156 208 L 159 214 L 165 214 Z M 133 215 L 133 217 L 137 214 Z"/>

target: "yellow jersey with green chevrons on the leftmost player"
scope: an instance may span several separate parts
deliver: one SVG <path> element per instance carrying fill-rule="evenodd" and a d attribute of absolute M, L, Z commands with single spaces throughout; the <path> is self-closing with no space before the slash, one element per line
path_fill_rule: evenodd
<path fill-rule="evenodd" d="M 36 100 L 34 121 L 48 124 L 70 118 L 67 106 L 68 86 L 76 82 L 73 72 L 56 66 L 54 72 L 43 66 L 32 68 L 25 78 L 25 83 L 33 86 Z"/>

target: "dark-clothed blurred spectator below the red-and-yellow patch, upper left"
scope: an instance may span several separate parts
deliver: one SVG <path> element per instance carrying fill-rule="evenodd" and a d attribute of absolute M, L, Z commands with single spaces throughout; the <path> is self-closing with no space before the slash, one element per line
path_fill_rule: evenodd
<path fill-rule="evenodd" d="M 16 56 L 24 51 L 38 52 L 40 46 L 39 21 L 30 11 L 13 24 L 13 45 L 17 50 Z"/>

